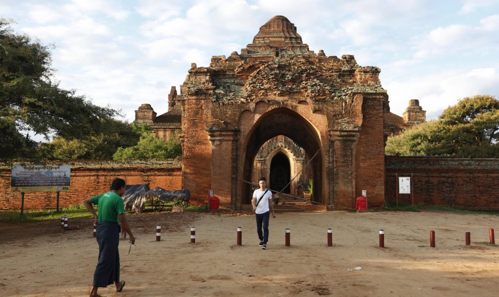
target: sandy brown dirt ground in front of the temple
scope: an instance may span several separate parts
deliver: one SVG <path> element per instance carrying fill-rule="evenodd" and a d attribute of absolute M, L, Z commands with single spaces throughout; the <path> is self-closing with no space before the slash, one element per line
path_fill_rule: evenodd
<path fill-rule="evenodd" d="M 137 246 L 120 242 L 123 291 L 105 296 L 496 296 L 499 217 L 439 212 L 278 213 L 268 249 L 253 215 L 164 213 L 129 216 Z M 98 246 L 92 221 L 0 225 L 0 295 L 88 296 Z M 156 225 L 162 226 L 156 242 Z M 190 227 L 196 243 L 190 243 Z M 242 227 L 242 246 L 236 228 Z M 291 246 L 285 247 L 285 229 Z M 333 247 L 327 247 L 327 229 Z M 385 246 L 379 247 L 384 229 Z M 436 248 L 429 247 L 429 231 Z M 471 232 L 471 246 L 465 232 Z M 499 232 L 496 232 L 499 233 Z M 499 235 L 497 236 L 499 240 Z M 355 270 L 355 267 L 361 267 Z"/>

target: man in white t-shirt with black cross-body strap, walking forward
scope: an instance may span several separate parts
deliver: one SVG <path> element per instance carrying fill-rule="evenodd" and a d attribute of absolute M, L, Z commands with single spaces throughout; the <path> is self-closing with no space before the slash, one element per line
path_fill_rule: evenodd
<path fill-rule="evenodd" d="M 275 219 L 274 204 L 272 203 L 272 192 L 265 188 L 267 180 L 265 177 L 260 177 L 258 180 L 259 189 L 253 192 L 251 204 L 257 218 L 257 233 L 260 239 L 259 246 L 262 249 L 267 249 L 267 241 L 269 241 L 269 218 L 272 211 L 272 217 Z M 262 232 L 263 228 L 263 232 Z"/>

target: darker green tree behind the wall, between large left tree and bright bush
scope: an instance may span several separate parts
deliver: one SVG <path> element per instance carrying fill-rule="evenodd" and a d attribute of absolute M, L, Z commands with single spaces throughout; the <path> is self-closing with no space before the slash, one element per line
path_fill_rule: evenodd
<path fill-rule="evenodd" d="M 81 139 L 55 137 L 40 146 L 39 154 L 48 159 L 112 160 L 119 147 L 136 145 L 143 130 L 135 123 L 114 119 L 101 121 L 96 129 L 96 133 Z"/>

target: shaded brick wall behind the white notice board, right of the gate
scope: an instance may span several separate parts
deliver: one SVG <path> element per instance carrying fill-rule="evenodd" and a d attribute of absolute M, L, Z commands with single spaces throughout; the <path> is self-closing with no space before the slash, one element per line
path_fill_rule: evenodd
<path fill-rule="evenodd" d="M 396 199 L 396 178 L 413 174 L 414 203 L 499 211 L 499 159 L 386 156 L 385 197 Z M 399 194 L 399 202 L 411 194 Z"/>

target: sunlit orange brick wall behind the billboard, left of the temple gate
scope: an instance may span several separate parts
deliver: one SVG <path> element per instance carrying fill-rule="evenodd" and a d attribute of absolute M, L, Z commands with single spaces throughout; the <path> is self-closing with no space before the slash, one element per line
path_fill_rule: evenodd
<path fill-rule="evenodd" d="M 181 160 L 148 161 L 54 161 L 53 165 L 71 166 L 71 190 L 60 192 L 59 206 L 79 205 L 84 199 L 106 192 L 115 177 L 127 184 L 148 183 L 167 190 L 182 188 Z M 14 165 L 23 165 L 14 163 Z M 34 165 L 34 164 L 32 164 Z M 21 193 L 11 192 L 12 165 L 0 165 L 0 210 L 21 209 Z M 25 193 L 24 209 L 55 209 L 56 192 Z"/>

